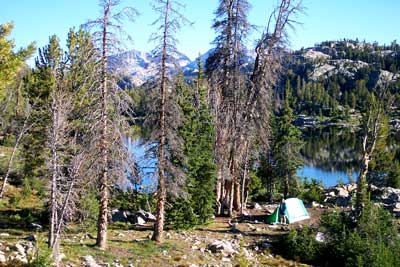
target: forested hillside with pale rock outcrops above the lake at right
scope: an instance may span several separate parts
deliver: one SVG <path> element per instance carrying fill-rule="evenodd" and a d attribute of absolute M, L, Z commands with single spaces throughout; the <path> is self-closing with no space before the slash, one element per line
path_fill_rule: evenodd
<path fill-rule="evenodd" d="M 290 54 L 286 79 L 297 113 L 320 116 L 365 112 L 380 87 L 389 87 L 399 106 L 400 46 L 358 40 L 325 41 Z"/>

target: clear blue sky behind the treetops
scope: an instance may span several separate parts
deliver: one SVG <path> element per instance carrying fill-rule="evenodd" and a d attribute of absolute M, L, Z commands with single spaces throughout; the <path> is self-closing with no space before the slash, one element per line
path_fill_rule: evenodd
<path fill-rule="evenodd" d="M 134 43 L 127 48 L 150 51 L 149 36 L 154 31 L 151 23 L 156 15 L 150 0 L 123 0 L 121 6 L 134 6 L 141 15 L 136 22 L 126 23 Z M 217 0 L 182 0 L 184 13 L 194 22 L 178 35 L 179 50 L 194 59 L 206 52 L 215 33 L 211 29 Z M 277 0 L 249 0 L 253 8 L 249 19 L 263 26 Z M 38 47 L 47 44 L 52 34 L 65 43 L 68 29 L 79 27 L 99 14 L 98 0 L 0 0 L 0 23 L 13 21 L 12 38 L 16 46 L 26 46 L 36 41 Z M 297 19 L 302 22 L 296 32 L 290 32 L 291 47 L 309 47 L 324 40 L 358 37 L 360 40 L 389 44 L 400 41 L 400 1 L 398 0 L 303 0 L 306 14 Z M 259 33 L 254 32 L 249 44 Z"/>

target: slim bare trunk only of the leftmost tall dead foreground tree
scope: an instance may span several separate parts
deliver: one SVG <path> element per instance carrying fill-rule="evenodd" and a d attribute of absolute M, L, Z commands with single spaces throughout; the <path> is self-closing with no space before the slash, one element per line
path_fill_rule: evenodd
<path fill-rule="evenodd" d="M 108 87 L 107 87 L 107 23 L 110 13 L 109 7 L 104 10 L 103 35 L 102 35 L 102 70 L 101 70 L 101 88 L 102 88 L 102 106 L 101 106 L 101 157 L 102 173 L 99 179 L 99 217 L 97 222 L 97 243 L 100 249 L 107 247 L 107 225 L 108 225 Z"/>

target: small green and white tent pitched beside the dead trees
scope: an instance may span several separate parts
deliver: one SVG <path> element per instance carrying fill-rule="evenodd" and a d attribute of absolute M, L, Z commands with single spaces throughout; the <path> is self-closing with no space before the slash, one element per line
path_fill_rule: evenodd
<path fill-rule="evenodd" d="M 285 216 L 287 223 L 295 223 L 310 218 L 306 208 L 304 207 L 303 201 L 301 201 L 300 199 L 288 198 L 285 200 L 285 203 L 286 203 Z M 278 207 L 271 215 L 267 216 L 267 218 L 265 219 L 266 223 L 270 224 L 280 223 L 279 208 L 280 205 L 278 205 Z"/>

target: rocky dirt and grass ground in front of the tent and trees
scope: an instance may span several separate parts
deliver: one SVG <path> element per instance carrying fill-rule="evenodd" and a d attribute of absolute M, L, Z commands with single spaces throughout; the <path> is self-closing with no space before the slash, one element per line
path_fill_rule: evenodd
<path fill-rule="evenodd" d="M 166 231 L 165 242 L 156 244 L 150 240 L 152 223 L 135 226 L 130 223 L 110 224 L 108 249 L 97 249 L 95 225 L 68 225 L 63 234 L 61 252 L 62 266 L 91 266 L 88 257 L 96 262 L 93 266 L 306 266 L 283 259 L 275 254 L 274 245 L 291 228 L 319 225 L 325 208 L 310 208 L 310 219 L 290 225 L 265 224 L 266 215 L 276 206 L 261 205 L 259 209 L 247 210 L 248 216 L 230 219 L 217 217 L 210 224 L 187 231 Z M 0 215 L 3 211 L 0 211 Z M 8 216 L 8 215 L 7 215 Z M 9 217 L 9 216 L 8 216 Z M 46 253 L 46 227 L 32 231 L 10 224 L 0 223 L 0 244 L 13 246 L 28 236 L 37 237 L 35 246 L 40 254 Z M 233 252 L 212 251 L 210 245 L 225 242 L 232 245 Z M 1 264 L 0 264 L 1 266 Z M 7 266 L 7 265 L 5 265 Z M 8 265 L 17 266 L 17 265 Z M 21 265 L 23 266 L 23 265 Z"/>

